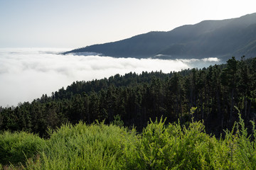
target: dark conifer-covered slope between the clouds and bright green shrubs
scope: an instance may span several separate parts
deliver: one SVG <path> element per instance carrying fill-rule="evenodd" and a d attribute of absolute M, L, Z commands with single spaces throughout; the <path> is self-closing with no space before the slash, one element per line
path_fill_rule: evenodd
<path fill-rule="evenodd" d="M 236 60 L 203 69 L 181 72 L 130 72 L 124 76 L 76 81 L 51 96 L 43 95 L 17 107 L 0 108 L 0 130 L 24 130 L 47 137 L 48 128 L 65 123 L 88 124 L 122 120 L 124 126 L 142 131 L 149 118 L 177 120 L 186 125 L 190 109 L 196 107 L 194 120 L 203 120 L 206 132 L 216 136 L 232 128 L 238 110 L 251 125 L 256 113 L 256 59 Z"/>

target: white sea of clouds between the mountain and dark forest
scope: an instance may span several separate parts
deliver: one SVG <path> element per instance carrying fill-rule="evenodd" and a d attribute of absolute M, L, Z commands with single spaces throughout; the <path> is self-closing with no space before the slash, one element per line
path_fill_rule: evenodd
<path fill-rule="evenodd" d="M 42 94 L 72 84 L 136 72 L 180 71 L 220 64 L 218 58 L 203 60 L 152 60 L 100 56 L 60 55 L 70 49 L 0 48 L 0 106 L 17 106 Z"/>

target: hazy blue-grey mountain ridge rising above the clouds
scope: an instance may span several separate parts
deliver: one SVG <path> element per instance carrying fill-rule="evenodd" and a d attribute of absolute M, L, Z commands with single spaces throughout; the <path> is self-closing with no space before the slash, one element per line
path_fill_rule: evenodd
<path fill-rule="evenodd" d="M 256 13 L 221 21 L 202 21 L 167 32 L 153 31 L 64 54 L 68 53 L 161 59 L 255 57 Z"/>

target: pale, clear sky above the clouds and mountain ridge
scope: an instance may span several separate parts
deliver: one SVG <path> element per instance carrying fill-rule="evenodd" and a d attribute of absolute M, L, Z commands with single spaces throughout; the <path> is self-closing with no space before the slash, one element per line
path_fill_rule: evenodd
<path fill-rule="evenodd" d="M 0 47 L 85 47 L 256 12 L 255 0 L 0 0 Z"/>

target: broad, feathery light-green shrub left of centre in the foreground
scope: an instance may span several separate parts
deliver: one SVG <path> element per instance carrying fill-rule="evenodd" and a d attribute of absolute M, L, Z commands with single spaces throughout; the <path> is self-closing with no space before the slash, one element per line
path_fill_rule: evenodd
<path fill-rule="evenodd" d="M 63 125 L 50 135 L 43 152 L 43 169 L 118 169 L 122 142 L 134 132 L 116 125 L 97 123 Z"/>

